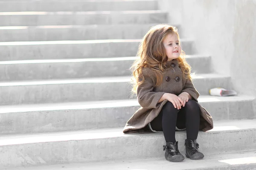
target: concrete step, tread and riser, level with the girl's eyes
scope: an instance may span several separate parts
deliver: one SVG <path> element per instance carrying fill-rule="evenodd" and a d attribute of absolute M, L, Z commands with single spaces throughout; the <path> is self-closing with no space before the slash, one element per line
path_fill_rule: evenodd
<path fill-rule="evenodd" d="M 181 41 L 186 54 L 194 54 L 194 42 Z M 140 39 L 0 42 L 0 61 L 129 57 L 136 56 L 140 42 Z"/>

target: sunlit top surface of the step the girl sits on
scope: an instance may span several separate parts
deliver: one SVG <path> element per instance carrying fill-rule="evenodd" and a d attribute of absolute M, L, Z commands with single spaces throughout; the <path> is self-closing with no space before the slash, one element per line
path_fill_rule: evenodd
<path fill-rule="evenodd" d="M 243 122 L 246 121 L 245 123 L 247 127 L 237 128 L 237 129 L 232 127 L 233 129 L 230 129 L 230 130 L 211 130 L 207 132 L 200 131 L 198 133 L 198 136 L 218 135 L 219 133 L 243 133 L 244 131 L 256 131 L 256 123 L 255 123 L 256 119 L 227 120 L 227 121 L 222 121 L 221 125 L 226 125 L 227 122 L 230 123 L 230 122 L 236 122 L 236 121 L 239 121 L 240 123 L 241 121 Z M 221 122 L 221 121 L 215 121 L 215 123 L 216 122 Z M 253 124 L 253 126 L 251 126 L 248 122 L 250 122 L 250 124 Z M 221 127 L 221 126 L 217 126 L 217 127 Z M 136 138 L 136 137 L 142 137 L 142 136 L 146 138 L 151 138 L 156 136 L 163 136 L 163 133 L 124 134 L 122 130 L 123 128 L 119 127 L 119 128 L 102 128 L 102 129 L 96 129 L 96 130 L 76 130 L 76 131 L 64 131 L 64 132 L 1 135 L 0 147 L 10 146 L 10 145 L 20 145 L 20 144 L 31 144 L 31 143 L 68 142 L 68 141 L 114 139 L 114 138 L 122 139 L 122 138 L 132 138 L 132 137 Z M 91 136 L 88 136 L 88 134 L 90 134 Z M 184 131 L 176 132 L 176 135 L 184 136 L 186 135 L 186 132 Z M 51 137 L 52 139 L 49 139 L 49 137 Z M 10 144 L 11 140 L 13 140 L 12 144 Z M 22 140 L 23 142 L 21 142 Z"/>

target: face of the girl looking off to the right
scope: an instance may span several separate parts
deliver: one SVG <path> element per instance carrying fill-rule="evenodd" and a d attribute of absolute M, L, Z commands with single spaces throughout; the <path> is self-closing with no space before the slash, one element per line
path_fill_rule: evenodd
<path fill-rule="evenodd" d="M 178 57 L 180 57 L 181 46 L 175 33 L 168 34 L 166 36 L 166 38 L 163 40 L 163 46 L 166 50 L 166 55 L 168 57 L 167 61 L 172 61 L 173 59 L 177 59 Z"/>

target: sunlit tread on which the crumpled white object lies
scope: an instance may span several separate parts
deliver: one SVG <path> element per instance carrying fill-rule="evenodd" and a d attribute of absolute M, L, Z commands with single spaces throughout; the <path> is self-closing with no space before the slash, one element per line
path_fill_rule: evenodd
<path fill-rule="evenodd" d="M 199 103 L 204 102 L 239 102 L 254 100 L 253 96 L 209 96 L 200 95 Z M 32 104 L 32 105 L 2 105 L 0 113 L 16 113 L 16 112 L 30 112 L 30 111 L 53 111 L 53 110 L 79 110 L 79 109 L 93 109 L 93 108 L 116 108 L 139 106 L 137 99 L 122 99 L 122 100 L 103 100 L 90 102 L 63 102 L 63 103 L 46 103 L 46 104 Z"/>

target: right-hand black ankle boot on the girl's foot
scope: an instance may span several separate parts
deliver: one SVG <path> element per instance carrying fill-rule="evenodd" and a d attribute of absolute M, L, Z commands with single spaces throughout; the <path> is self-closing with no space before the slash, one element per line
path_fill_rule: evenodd
<path fill-rule="evenodd" d="M 199 152 L 199 144 L 196 140 L 185 140 L 186 157 L 190 159 L 203 159 L 204 154 Z"/>

